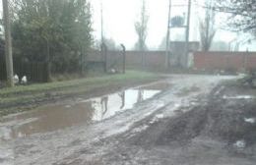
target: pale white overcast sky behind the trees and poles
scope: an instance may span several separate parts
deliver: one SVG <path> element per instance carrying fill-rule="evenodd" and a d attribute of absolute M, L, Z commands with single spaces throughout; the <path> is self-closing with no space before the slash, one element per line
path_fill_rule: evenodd
<path fill-rule="evenodd" d="M 100 38 L 100 1 L 90 0 L 93 10 L 93 27 L 96 39 Z M 167 14 L 169 0 L 146 0 L 149 19 L 147 45 L 154 49 L 160 46 L 162 38 L 166 35 Z M 190 40 L 199 40 L 198 17 L 204 15 L 201 7 L 195 4 L 203 4 L 204 0 L 192 0 Z M 133 48 L 137 41 L 134 23 L 138 21 L 142 0 L 102 0 L 103 3 L 103 31 L 106 38 L 112 38 L 116 43 L 124 43 L 127 48 Z M 172 5 L 186 5 L 187 0 L 172 0 Z M 2 11 L 2 1 L 0 1 Z M 183 15 L 187 7 L 173 7 L 171 16 Z M 182 34 L 181 29 L 172 29 L 171 37 L 176 38 Z M 229 41 L 234 34 L 221 30 L 217 33 L 216 40 Z"/>

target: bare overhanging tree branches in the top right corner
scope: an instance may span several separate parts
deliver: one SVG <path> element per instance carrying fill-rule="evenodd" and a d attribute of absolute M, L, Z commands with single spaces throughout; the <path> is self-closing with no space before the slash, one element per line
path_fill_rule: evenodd
<path fill-rule="evenodd" d="M 251 32 L 256 35 L 255 0 L 216 0 L 216 10 L 229 14 L 227 25 L 236 31 Z"/>

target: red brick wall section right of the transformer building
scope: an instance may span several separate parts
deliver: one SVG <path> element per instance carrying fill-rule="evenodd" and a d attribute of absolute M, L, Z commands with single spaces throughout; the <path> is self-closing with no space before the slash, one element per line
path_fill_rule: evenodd
<path fill-rule="evenodd" d="M 256 69 L 256 52 L 194 52 L 194 68 Z"/>

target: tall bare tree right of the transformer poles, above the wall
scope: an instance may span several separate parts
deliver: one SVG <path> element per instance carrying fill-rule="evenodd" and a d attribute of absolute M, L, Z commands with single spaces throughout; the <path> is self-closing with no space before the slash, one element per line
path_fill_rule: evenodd
<path fill-rule="evenodd" d="M 206 2 L 205 18 L 200 21 L 200 39 L 202 51 L 209 51 L 216 34 L 215 11 L 213 1 Z"/>

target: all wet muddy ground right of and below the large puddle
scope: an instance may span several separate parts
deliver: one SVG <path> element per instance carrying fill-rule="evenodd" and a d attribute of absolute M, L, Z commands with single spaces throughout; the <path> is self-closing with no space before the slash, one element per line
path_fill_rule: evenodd
<path fill-rule="evenodd" d="M 252 99 L 238 99 L 239 102 L 224 99 L 224 94 L 234 91 L 222 85 L 213 90 L 218 83 L 230 79 L 235 78 L 171 76 L 165 83 L 150 85 L 155 85 L 150 90 L 156 91 L 152 98 L 143 97 L 141 102 L 135 101 L 132 108 L 95 123 L 5 142 L 0 140 L 0 162 L 21 165 L 255 164 L 254 123 L 245 121 L 255 118 Z M 138 100 L 138 95 L 129 100 Z M 83 103 L 83 99 L 80 101 Z M 72 108 L 72 104 L 68 105 L 67 109 Z"/>

